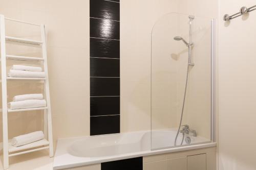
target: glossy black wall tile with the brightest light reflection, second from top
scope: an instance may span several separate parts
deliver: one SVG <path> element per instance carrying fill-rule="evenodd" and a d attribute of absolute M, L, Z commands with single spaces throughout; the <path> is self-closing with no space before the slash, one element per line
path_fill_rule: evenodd
<path fill-rule="evenodd" d="M 120 23 L 108 19 L 90 18 L 90 37 L 120 39 Z"/>

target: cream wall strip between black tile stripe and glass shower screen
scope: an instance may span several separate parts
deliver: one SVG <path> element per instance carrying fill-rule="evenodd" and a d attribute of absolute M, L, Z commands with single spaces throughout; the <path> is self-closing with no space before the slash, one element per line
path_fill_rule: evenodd
<path fill-rule="evenodd" d="M 121 132 L 151 129 L 151 32 L 173 0 L 123 0 L 120 3 Z"/>

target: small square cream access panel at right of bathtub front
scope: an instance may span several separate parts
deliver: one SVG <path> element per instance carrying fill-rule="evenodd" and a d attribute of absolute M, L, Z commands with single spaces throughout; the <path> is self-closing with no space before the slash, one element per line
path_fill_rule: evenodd
<path fill-rule="evenodd" d="M 188 156 L 187 170 L 206 170 L 206 154 Z"/>

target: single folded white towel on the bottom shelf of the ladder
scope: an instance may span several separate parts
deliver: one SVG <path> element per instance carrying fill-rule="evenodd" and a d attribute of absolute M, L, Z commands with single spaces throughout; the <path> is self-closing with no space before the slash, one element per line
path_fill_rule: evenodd
<path fill-rule="evenodd" d="M 45 135 L 42 131 L 36 131 L 25 135 L 20 135 L 12 138 L 12 145 L 19 147 L 28 143 L 32 143 L 41 139 L 44 139 Z"/>

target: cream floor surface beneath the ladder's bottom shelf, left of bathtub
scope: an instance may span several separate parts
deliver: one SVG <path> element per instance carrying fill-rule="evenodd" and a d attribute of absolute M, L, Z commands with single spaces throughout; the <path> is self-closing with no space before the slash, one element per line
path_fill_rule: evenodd
<path fill-rule="evenodd" d="M 1 156 L 0 170 L 3 170 L 2 161 L 3 156 Z M 49 153 L 47 151 L 38 151 L 15 156 L 10 158 L 9 161 L 10 166 L 8 170 L 52 170 L 53 158 L 49 158 Z"/>

